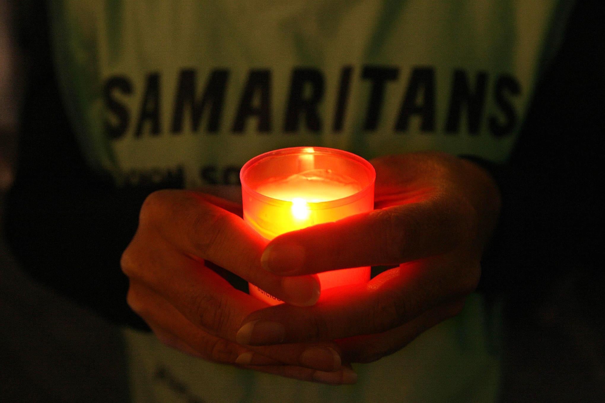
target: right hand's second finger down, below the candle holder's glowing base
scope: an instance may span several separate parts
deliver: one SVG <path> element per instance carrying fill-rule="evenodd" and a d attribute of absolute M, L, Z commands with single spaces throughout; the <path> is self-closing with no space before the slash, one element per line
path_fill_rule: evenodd
<path fill-rule="evenodd" d="M 277 305 L 253 312 L 236 340 L 260 346 L 385 332 L 471 292 L 479 278 L 479 265 L 463 262 L 435 257 L 407 263 L 383 272 L 367 285 L 328 289 L 312 307 Z"/>

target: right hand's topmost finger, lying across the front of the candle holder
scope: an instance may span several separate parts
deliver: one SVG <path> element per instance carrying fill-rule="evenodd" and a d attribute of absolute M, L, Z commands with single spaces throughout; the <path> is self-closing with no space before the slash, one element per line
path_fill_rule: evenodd
<path fill-rule="evenodd" d="M 446 253 L 471 232 L 468 208 L 433 195 L 421 202 L 362 213 L 273 239 L 261 258 L 280 276 L 395 265 Z"/>

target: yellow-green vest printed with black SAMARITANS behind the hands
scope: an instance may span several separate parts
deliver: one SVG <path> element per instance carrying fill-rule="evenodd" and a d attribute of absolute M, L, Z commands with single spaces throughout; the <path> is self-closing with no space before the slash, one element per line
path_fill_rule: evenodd
<path fill-rule="evenodd" d="M 54 0 L 65 104 L 117 185 L 237 184 L 289 146 L 443 150 L 506 161 L 569 1 Z M 359 383 L 202 363 L 126 330 L 136 401 L 490 401 L 499 366 L 478 295 Z M 171 397 L 168 397 L 171 396 Z"/>

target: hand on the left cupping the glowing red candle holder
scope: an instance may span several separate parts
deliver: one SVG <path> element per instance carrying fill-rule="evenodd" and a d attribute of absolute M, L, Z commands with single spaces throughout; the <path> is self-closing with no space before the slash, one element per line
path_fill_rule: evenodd
<path fill-rule="evenodd" d="M 189 355 L 308 381 L 353 382 L 355 374 L 341 365 L 335 343 L 237 343 L 241 321 L 267 305 L 233 288 L 211 263 L 294 305 L 312 305 L 319 297 L 316 276 L 280 277 L 261 268 L 267 241 L 238 210 L 241 206 L 198 192 L 152 193 L 122 255 L 130 280 L 128 304 L 161 341 Z"/>

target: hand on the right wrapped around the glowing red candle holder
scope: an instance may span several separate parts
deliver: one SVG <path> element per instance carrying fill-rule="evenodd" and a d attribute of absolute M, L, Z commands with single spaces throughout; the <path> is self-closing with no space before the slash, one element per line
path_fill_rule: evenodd
<path fill-rule="evenodd" d="M 263 267 L 280 276 L 396 268 L 364 285 L 322 291 L 314 306 L 253 312 L 238 331 L 240 344 L 336 340 L 345 362 L 365 363 L 460 312 L 479 281 L 483 245 L 499 212 L 496 185 L 480 167 L 445 153 L 371 162 L 376 210 L 276 237 Z"/>

